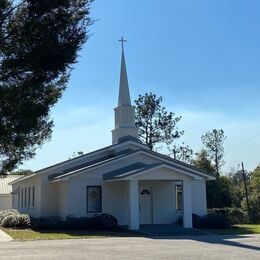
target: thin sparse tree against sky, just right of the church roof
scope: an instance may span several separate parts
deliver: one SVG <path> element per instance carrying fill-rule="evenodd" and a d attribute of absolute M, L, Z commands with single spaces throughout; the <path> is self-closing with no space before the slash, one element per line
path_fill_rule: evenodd
<path fill-rule="evenodd" d="M 220 168 L 224 164 L 223 157 L 225 139 L 226 136 L 224 135 L 223 129 L 213 129 L 201 136 L 201 141 L 205 145 L 210 158 L 214 162 L 217 177 L 219 177 Z"/>

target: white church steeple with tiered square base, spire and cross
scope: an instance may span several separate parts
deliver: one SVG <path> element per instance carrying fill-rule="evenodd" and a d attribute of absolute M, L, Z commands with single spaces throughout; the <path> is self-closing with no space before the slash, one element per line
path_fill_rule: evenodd
<path fill-rule="evenodd" d="M 119 83 L 118 106 L 115 111 L 115 129 L 112 130 L 112 143 L 117 144 L 124 137 L 138 139 L 137 128 L 135 127 L 135 107 L 131 105 L 127 71 L 124 54 L 124 42 L 126 40 L 121 38 L 122 56 L 121 56 L 121 70 Z"/>

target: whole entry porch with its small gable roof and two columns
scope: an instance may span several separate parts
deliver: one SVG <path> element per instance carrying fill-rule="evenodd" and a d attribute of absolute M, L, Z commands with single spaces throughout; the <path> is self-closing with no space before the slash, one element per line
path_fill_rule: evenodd
<path fill-rule="evenodd" d="M 138 230 L 144 224 L 173 224 L 178 217 L 183 218 L 184 228 L 192 228 L 192 181 L 198 178 L 168 165 L 125 169 L 104 176 L 105 182 L 125 184 L 125 216 L 130 230 Z M 176 197 L 177 187 L 181 200 Z"/>

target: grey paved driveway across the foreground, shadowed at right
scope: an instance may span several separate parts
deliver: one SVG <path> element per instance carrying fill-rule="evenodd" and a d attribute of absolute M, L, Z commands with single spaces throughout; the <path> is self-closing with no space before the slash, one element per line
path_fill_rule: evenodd
<path fill-rule="evenodd" d="M 11 241 L 0 259 L 260 259 L 260 235 Z"/>

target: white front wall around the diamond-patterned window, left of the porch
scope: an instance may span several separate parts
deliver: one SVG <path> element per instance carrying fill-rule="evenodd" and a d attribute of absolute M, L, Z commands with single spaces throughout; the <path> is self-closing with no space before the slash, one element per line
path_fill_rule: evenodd
<path fill-rule="evenodd" d="M 127 225 L 124 182 L 103 183 L 102 179 L 78 176 L 58 184 L 58 215 L 65 218 L 93 217 L 100 213 L 87 212 L 87 186 L 102 186 L 102 212 L 115 216 L 119 225 Z"/>

